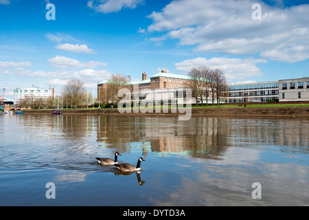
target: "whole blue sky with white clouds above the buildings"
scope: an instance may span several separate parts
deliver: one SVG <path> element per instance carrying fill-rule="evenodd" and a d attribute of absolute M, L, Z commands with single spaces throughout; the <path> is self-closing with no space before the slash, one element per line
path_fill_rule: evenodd
<path fill-rule="evenodd" d="M 47 21 L 53 3 L 56 20 Z M 261 20 L 253 20 L 254 3 Z M 308 1 L 0 0 L 0 91 L 219 68 L 229 83 L 309 76 Z M 95 93 L 96 96 L 96 93 Z"/>

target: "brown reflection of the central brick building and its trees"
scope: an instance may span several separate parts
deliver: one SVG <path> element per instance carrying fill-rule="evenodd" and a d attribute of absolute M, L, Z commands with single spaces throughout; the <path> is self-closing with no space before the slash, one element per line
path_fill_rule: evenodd
<path fill-rule="evenodd" d="M 152 151 L 217 159 L 227 148 L 228 126 L 220 118 L 181 122 L 178 118 L 99 116 L 98 120 L 98 141 L 119 151 L 137 145 L 144 156 Z"/>

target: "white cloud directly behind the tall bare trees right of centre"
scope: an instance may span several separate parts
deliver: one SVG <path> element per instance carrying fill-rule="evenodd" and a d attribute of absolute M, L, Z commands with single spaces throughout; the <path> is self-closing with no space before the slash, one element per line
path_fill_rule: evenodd
<path fill-rule="evenodd" d="M 264 73 L 258 68 L 256 63 L 266 63 L 263 59 L 254 58 L 194 58 L 181 63 L 175 63 L 176 69 L 187 74 L 192 67 L 205 65 L 211 69 L 220 69 L 225 73 L 228 82 L 243 80 L 250 76 L 263 76 Z"/>

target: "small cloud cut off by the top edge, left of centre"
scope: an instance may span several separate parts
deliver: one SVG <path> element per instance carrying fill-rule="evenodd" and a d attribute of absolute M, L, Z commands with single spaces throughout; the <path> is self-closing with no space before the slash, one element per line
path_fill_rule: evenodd
<path fill-rule="evenodd" d="M 97 12 L 106 14 L 119 12 L 123 8 L 134 9 L 143 2 L 144 0 L 92 0 L 88 1 L 87 6 L 93 8 Z"/>

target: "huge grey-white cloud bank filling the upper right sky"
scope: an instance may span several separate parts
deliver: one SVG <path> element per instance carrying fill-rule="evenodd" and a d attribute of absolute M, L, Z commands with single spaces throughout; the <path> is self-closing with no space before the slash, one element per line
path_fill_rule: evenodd
<path fill-rule="evenodd" d="M 252 5 L 262 6 L 262 20 L 251 17 Z M 194 45 L 194 51 L 221 54 L 260 54 L 262 58 L 290 63 L 309 58 L 309 5 L 282 8 L 257 0 L 177 0 L 148 18 L 147 31 L 162 32 L 152 39 L 157 45 L 176 39 L 179 45 Z"/>

